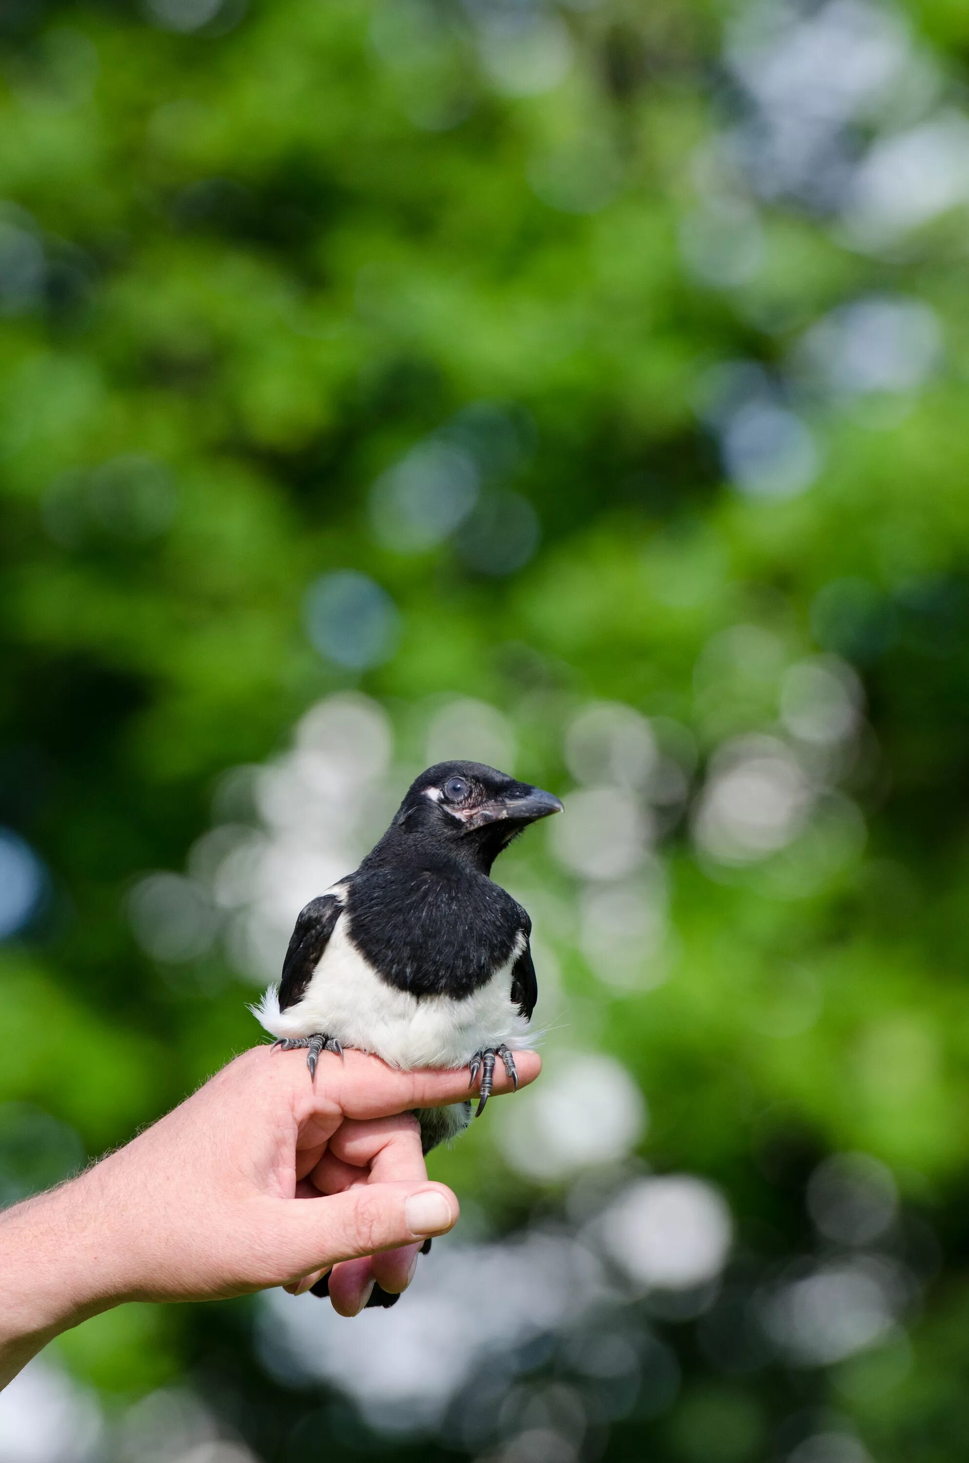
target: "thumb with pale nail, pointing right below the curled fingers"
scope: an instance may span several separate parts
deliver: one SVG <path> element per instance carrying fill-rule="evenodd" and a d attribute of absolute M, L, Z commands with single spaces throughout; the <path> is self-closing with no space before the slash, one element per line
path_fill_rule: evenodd
<path fill-rule="evenodd" d="M 343 1194 L 280 1201 L 278 1251 L 290 1274 L 397 1249 L 444 1235 L 458 1222 L 457 1197 L 444 1184 L 360 1184 Z"/>

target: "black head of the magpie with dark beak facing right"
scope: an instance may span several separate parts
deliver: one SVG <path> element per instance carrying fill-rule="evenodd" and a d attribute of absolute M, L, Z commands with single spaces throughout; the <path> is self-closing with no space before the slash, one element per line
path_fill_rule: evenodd
<path fill-rule="evenodd" d="M 528 824 L 561 813 L 552 793 L 483 762 L 438 762 L 414 778 L 394 828 L 423 835 L 484 870 Z"/>

